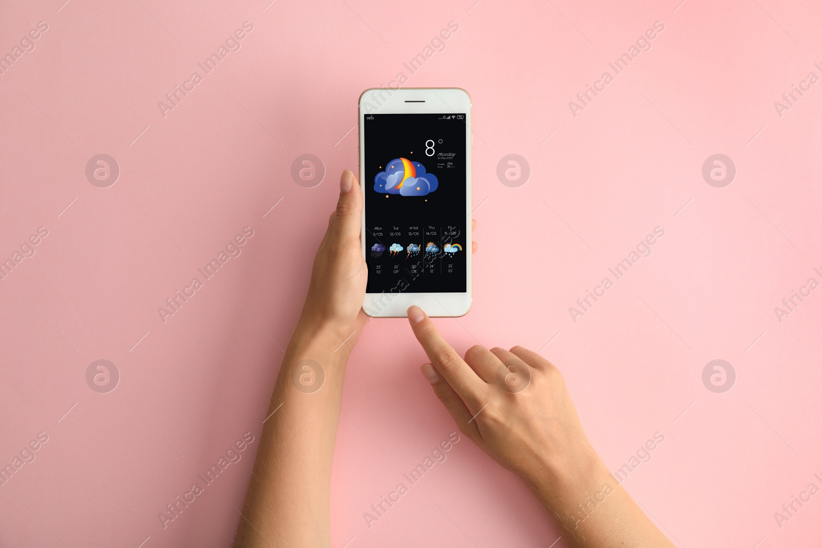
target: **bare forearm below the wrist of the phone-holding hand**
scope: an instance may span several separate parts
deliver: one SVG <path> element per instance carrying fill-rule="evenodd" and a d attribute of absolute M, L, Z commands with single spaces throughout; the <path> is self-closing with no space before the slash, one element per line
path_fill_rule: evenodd
<path fill-rule="evenodd" d="M 331 460 L 349 345 L 301 320 L 280 366 L 235 546 L 329 546 Z M 302 378 L 301 378 L 302 377 Z"/>

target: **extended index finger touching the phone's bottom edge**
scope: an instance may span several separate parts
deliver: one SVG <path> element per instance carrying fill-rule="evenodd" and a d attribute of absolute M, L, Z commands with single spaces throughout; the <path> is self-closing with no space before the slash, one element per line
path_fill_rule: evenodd
<path fill-rule="evenodd" d="M 434 322 L 419 306 L 410 306 L 408 316 L 414 336 L 423 346 L 436 371 L 439 371 L 462 398 L 469 410 L 475 412 L 485 403 L 480 403 L 487 392 L 485 381 L 480 379 L 454 348 L 451 348 L 446 339 L 442 338 Z"/>

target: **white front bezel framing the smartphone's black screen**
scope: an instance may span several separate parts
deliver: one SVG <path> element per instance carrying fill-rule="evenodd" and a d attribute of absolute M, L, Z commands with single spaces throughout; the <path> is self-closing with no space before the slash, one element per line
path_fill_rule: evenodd
<path fill-rule="evenodd" d="M 408 103 L 406 101 L 423 101 Z M 361 221 L 361 246 L 365 248 L 365 193 L 370 188 L 364 180 L 365 147 L 364 131 L 367 114 L 431 114 L 465 113 L 465 288 L 466 292 L 366 293 L 363 311 L 375 318 L 404 318 L 408 307 L 417 305 L 432 317 L 459 317 L 471 309 L 471 97 L 460 88 L 403 88 L 390 90 L 370 88 L 360 94 L 358 100 L 358 168 L 360 187 L 363 189 L 363 218 Z"/>

